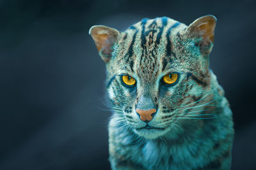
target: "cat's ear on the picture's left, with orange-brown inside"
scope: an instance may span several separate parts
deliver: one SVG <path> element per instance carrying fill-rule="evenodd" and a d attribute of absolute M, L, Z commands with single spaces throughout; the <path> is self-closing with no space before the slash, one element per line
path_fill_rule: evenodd
<path fill-rule="evenodd" d="M 119 31 L 104 25 L 92 26 L 89 34 L 97 47 L 100 57 L 108 63 L 113 52 L 113 45 L 116 43 Z"/>

